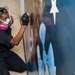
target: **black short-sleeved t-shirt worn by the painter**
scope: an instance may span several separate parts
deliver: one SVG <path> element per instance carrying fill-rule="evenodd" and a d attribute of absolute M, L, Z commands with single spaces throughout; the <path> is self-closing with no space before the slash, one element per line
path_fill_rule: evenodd
<path fill-rule="evenodd" d="M 12 38 L 11 28 L 8 30 L 0 30 L 0 51 L 4 51 L 13 47 L 13 45 L 10 43 Z"/>

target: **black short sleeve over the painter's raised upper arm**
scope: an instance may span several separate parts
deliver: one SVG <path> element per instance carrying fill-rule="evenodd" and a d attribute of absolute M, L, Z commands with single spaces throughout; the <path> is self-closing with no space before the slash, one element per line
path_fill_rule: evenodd
<path fill-rule="evenodd" d="M 6 45 L 7 47 L 12 47 L 13 45 L 10 43 L 13 37 L 6 33 L 0 34 L 0 44 Z"/>

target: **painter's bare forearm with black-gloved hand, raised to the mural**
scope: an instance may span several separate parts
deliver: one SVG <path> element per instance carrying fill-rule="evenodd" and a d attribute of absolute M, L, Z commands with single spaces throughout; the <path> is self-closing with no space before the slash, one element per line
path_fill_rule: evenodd
<path fill-rule="evenodd" d="M 22 36 L 25 32 L 26 26 L 28 25 L 28 22 L 29 22 L 29 16 L 26 13 L 23 14 L 23 16 L 21 17 L 21 21 L 22 21 L 22 26 L 21 26 L 18 34 L 10 41 L 10 43 L 12 45 L 18 45 L 19 42 L 21 41 Z"/>

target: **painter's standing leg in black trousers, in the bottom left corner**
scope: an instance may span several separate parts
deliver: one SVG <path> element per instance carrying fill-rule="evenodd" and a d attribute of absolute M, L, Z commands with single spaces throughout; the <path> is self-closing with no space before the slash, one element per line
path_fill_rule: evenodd
<path fill-rule="evenodd" d="M 5 64 L 4 60 L 0 58 L 0 75 L 10 75 L 7 65 Z"/>

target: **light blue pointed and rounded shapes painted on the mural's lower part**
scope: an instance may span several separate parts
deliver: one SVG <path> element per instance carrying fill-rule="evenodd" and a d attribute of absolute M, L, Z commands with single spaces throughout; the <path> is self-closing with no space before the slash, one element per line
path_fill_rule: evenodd
<path fill-rule="evenodd" d="M 54 55 L 52 44 L 49 44 L 48 54 L 45 52 L 45 36 L 46 36 L 46 27 L 44 22 L 41 22 L 39 29 L 39 37 L 43 46 L 43 60 L 41 60 L 39 46 L 37 46 L 37 55 L 38 55 L 38 65 L 39 65 L 39 75 L 44 75 L 44 67 L 48 66 L 49 75 L 54 75 Z"/>

